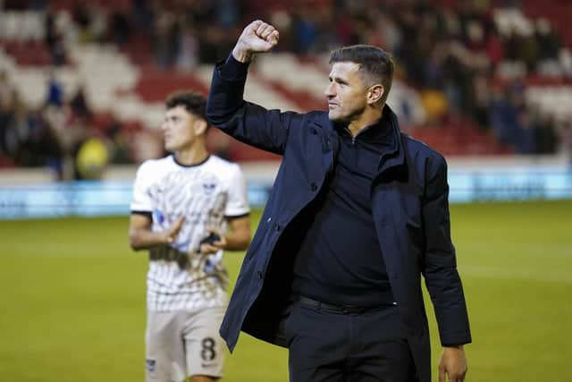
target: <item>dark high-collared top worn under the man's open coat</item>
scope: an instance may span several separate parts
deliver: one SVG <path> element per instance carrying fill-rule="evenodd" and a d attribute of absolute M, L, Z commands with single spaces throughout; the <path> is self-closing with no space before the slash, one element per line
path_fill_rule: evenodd
<path fill-rule="evenodd" d="M 333 172 L 299 219 L 302 236 L 292 292 L 334 304 L 374 307 L 394 301 L 372 216 L 380 159 L 394 142 L 383 119 L 352 137 L 337 127 Z"/>

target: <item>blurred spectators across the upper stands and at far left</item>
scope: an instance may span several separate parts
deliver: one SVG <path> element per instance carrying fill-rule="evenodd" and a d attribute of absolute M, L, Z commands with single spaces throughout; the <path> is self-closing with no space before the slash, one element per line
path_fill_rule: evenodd
<path fill-rule="evenodd" d="M 280 30 L 279 51 L 316 55 L 357 43 L 386 48 L 398 62 L 397 77 L 419 91 L 426 128 L 462 115 L 516 153 L 554 153 L 572 145 L 570 121 L 527 103 L 523 81 L 530 74 L 571 78 L 570 47 L 563 47 L 547 20 L 500 28 L 486 0 L 462 0 L 455 9 L 428 0 L 117 0 L 114 7 L 77 1 L 67 2 L 73 5 L 63 19 L 51 3 L 0 0 L 0 9 L 46 13 L 44 44 L 55 66 L 68 62 L 72 44 L 112 42 L 127 52 L 148 52 L 162 68 L 190 71 L 225 58 L 246 22 L 260 18 Z M 46 102 L 29 110 L 0 72 L 4 161 L 53 166 L 62 179 L 85 177 L 77 157 L 95 139 L 108 161 L 130 162 L 121 123 L 112 119 L 103 130 L 90 128 L 93 113 L 81 87 L 63 99 L 61 86 L 48 77 Z"/>

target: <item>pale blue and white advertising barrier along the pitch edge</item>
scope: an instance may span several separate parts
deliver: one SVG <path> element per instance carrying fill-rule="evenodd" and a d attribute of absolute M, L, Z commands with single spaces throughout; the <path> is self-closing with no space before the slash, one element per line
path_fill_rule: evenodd
<path fill-rule="evenodd" d="M 554 158 L 450 160 L 450 202 L 572 199 L 572 167 Z M 265 205 L 277 163 L 242 164 L 248 200 Z M 136 167 L 110 168 L 102 181 L 51 182 L 43 171 L 0 172 L 0 219 L 127 216 Z"/>

